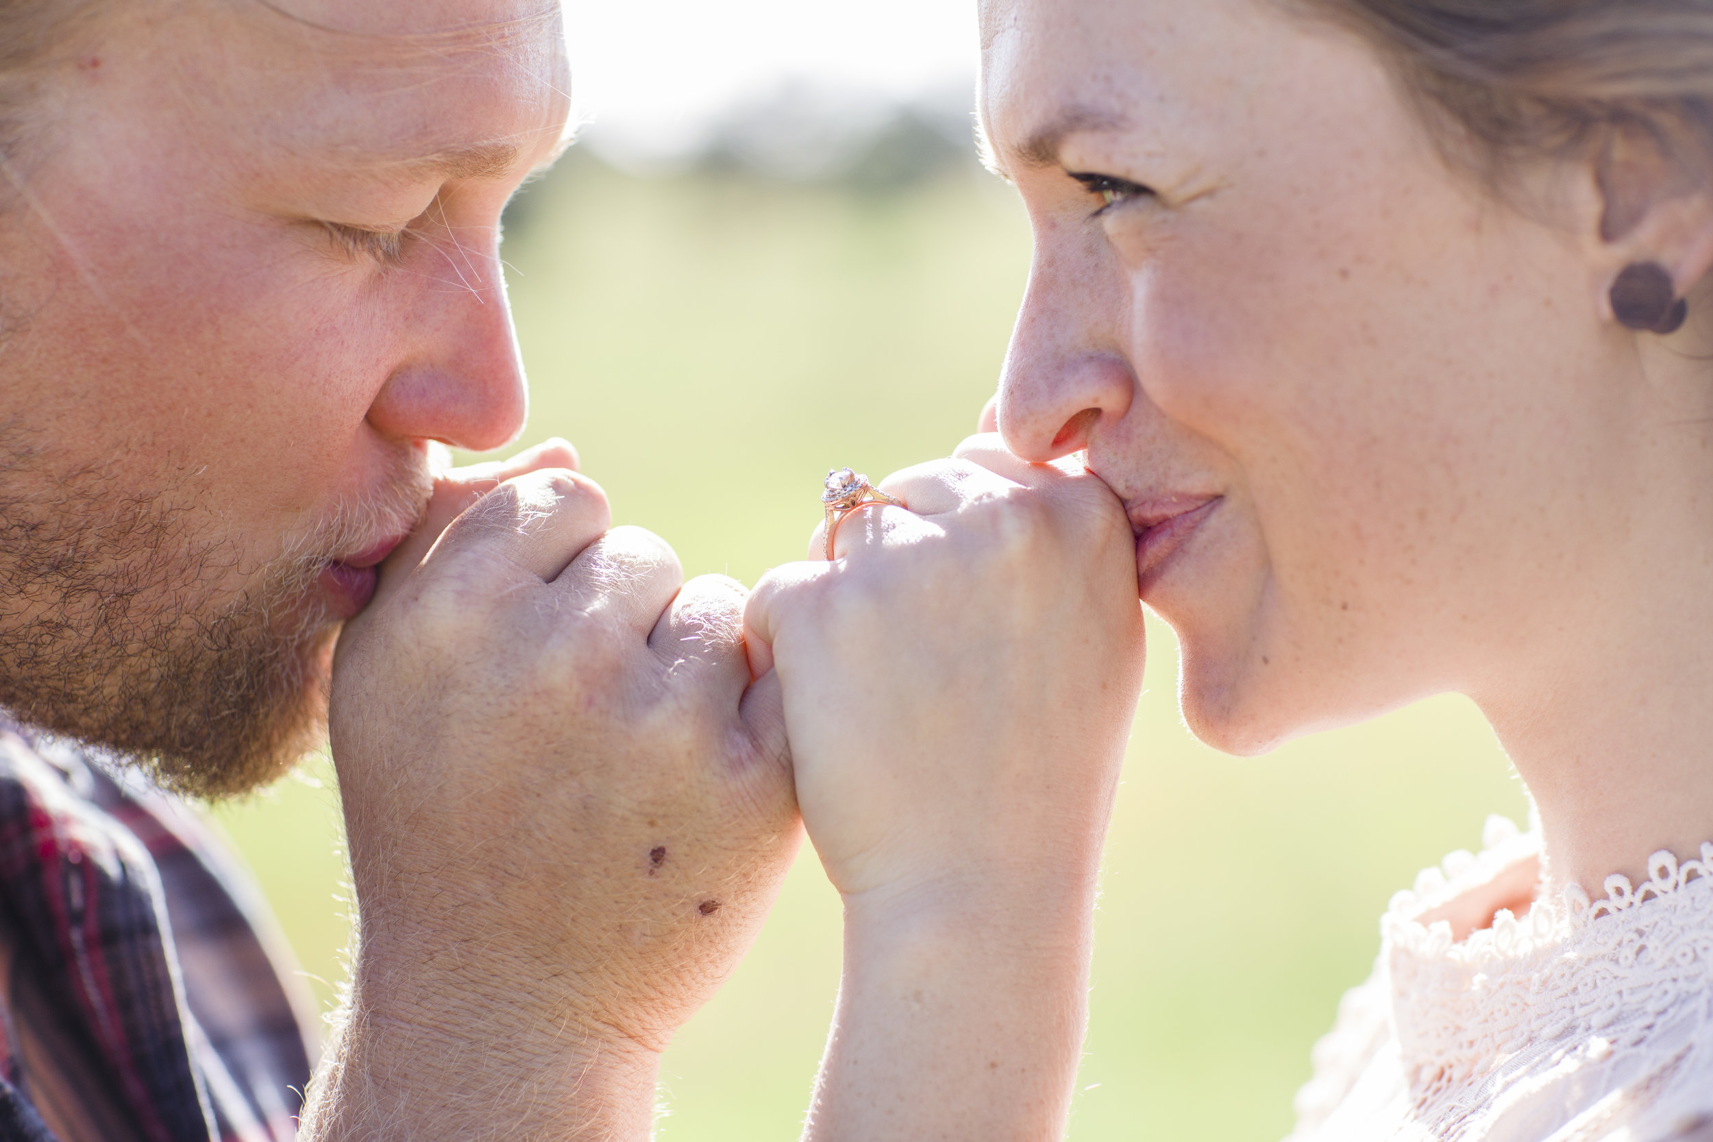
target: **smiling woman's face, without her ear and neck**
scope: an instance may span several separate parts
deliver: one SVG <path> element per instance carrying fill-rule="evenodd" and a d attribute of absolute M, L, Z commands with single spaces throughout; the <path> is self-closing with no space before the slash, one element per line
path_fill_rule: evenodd
<path fill-rule="evenodd" d="M 1259 752 L 1562 642 L 1632 495 L 1593 180 L 1501 205 L 1364 41 L 1262 0 L 982 17 L 1036 240 L 1000 431 L 1124 498 L 1191 728 Z"/>

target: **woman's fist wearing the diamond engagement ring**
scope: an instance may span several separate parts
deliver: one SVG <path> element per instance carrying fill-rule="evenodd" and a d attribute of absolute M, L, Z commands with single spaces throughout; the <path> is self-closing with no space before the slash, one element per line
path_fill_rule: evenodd
<path fill-rule="evenodd" d="M 809 836 L 848 906 L 956 899 L 1076 926 L 1141 690 L 1122 505 L 997 437 L 880 486 L 904 507 L 851 515 L 836 562 L 778 568 L 749 604 Z"/>

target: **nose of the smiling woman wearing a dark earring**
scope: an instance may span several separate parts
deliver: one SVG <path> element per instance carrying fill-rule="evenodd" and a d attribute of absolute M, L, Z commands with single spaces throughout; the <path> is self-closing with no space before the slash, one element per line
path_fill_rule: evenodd
<path fill-rule="evenodd" d="M 1098 252 L 1055 248 L 1050 238 L 1036 235 L 999 380 L 999 431 L 1026 461 L 1088 447 L 1100 419 L 1119 419 L 1131 407 L 1136 384 L 1124 358 L 1124 274 Z"/>

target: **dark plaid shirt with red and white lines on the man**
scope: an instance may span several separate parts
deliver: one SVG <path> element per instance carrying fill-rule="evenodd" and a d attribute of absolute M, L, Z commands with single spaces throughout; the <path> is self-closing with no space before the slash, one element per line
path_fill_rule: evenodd
<path fill-rule="evenodd" d="M 289 954 L 200 822 L 98 760 L 0 721 L 0 1142 L 288 1142 Z"/>

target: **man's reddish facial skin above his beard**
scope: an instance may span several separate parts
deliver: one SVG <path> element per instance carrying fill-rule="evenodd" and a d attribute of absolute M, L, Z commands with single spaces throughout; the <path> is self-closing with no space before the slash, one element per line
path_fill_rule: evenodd
<path fill-rule="evenodd" d="M 284 9 L 190 2 L 101 22 L 101 51 L 57 74 L 45 103 L 45 130 L 77 130 L 24 156 L 29 200 L 0 226 L 7 312 L 29 315 L 5 339 L 10 431 L 50 449 L 41 479 L 99 464 L 218 512 L 240 543 L 233 592 L 295 531 L 372 491 L 394 454 L 517 435 L 498 214 L 565 118 L 553 22 L 463 51 L 509 67 L 447 58 L 423 86 L 408 60 L 353 48 L 358 14 L 322 14 L 336 31 L 313 33 L 313 9 Z M 329 82 L 301 82 L 303 67 Z M 356 178 L 399 151 L 497 135 L 521 146 L 492 176 Z M 385 271 L 317 219 L 415 219 L 418 238 Z"/>

